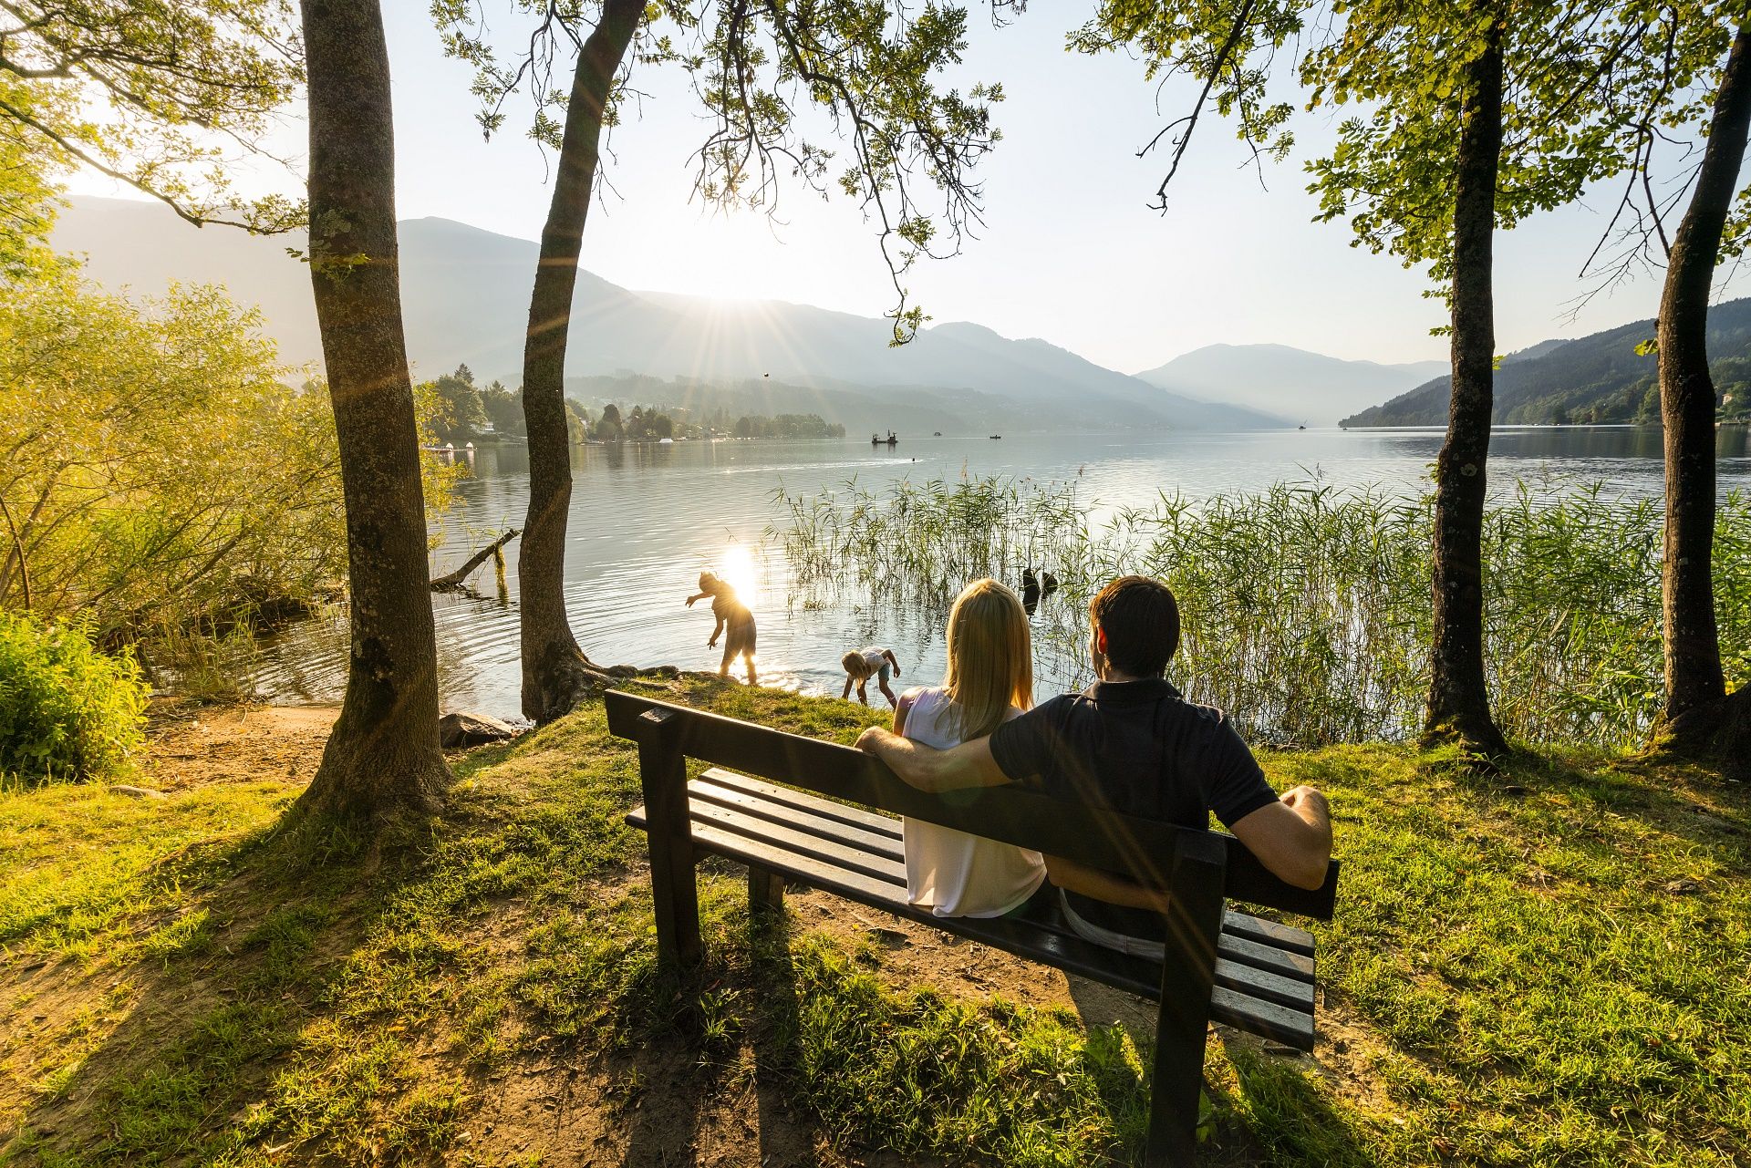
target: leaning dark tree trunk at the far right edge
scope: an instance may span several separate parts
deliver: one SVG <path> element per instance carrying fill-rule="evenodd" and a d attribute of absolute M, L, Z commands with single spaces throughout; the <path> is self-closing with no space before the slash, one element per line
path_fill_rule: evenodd
<path fill-rule="evenodd" d="M 1697 189 L 1672 238 L 1660 296 L 1660 420 L 1665 424 L 1665 746 L 1705 753 L 1726 695 L 1714 625 L 1714 378 L 1709 294 L 1751 128 L 1751 25 L 1733 37 Z"/>

